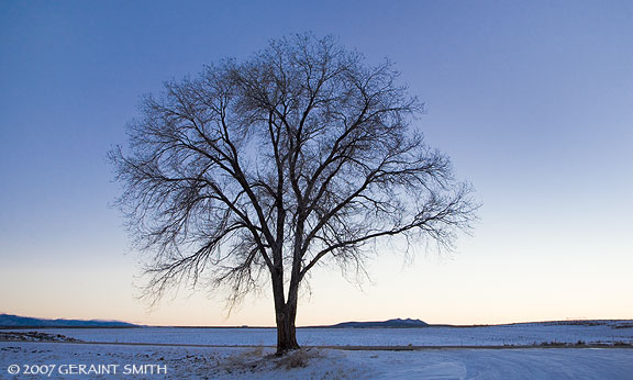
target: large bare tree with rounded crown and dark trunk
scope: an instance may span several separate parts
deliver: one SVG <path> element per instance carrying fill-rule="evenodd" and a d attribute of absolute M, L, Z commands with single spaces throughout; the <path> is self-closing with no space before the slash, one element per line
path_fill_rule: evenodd
<path fill-rule="evenodd" d="M 299 347 L 299 289 L 318 264 L 363 268 L 390 236 L 449 246 L 473 219 L 470 190 L 410 126 L 422 104 L 398 76 L 298 35 L 146 97 L 130 153 L 110 157 L 153 254 L 149 292 L 211 279 L 236 302 L 269 281 L 282 354 Z"/>

